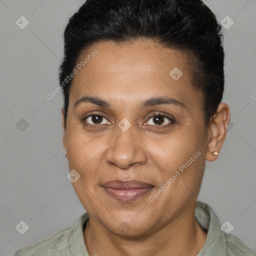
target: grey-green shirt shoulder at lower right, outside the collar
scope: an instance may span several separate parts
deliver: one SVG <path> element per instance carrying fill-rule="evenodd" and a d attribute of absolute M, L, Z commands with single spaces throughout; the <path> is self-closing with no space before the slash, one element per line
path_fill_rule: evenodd
<path fill-rule="evenodd" d="M 256 251 L 247 247 L 237 236 L 224 234 L 226 241 L 226 255 L 256 256 Z"/>

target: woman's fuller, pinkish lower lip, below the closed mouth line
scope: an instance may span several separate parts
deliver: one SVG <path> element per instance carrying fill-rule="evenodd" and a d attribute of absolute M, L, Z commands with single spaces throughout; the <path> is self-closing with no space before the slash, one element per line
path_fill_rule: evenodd
<path fill-rule="evenodd" d="M 132 201 L 150 191 L 153 187 L 133 188 L 133 189 L 114 189 L 110 187 L 103 187 L 104 190 L 119 201 Z"/>

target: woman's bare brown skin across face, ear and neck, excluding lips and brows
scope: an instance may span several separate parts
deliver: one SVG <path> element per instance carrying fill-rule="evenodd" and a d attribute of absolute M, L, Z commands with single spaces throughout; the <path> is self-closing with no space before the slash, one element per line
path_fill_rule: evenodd
<path fill-rule="evenodd" d="M 194 207 L 205 160 L 213 161 L 224 142 L 229 108 L 220 103 L 204 125 L 203 97 L 191 84 L 188 57 L 152 40 L 98 42 L 82 52 L 98 53 L 75 75 L 63 146 L 69 169 L 80 178 L 72 183 L 89 220 L 83 231 L 89 255 L 197 255 L 207 233 L 194 217 Z M 182 76 L 169 72 L 178 67 Z M 74 103 L 84 96 L 98 97 L 109 106 Z M 151 97 L 172 97 L 185 106 L 157 104 L 140 109 Z M 160 124 L 150 114 L 162 113 Z M 97 120 L 83 117 L 102 115 Z M 94 116 L 95 117 L 95 116 Z M 126 118 L 126 131 L 118 123 Z M 85 125 L 87 123 L 87 125 Z M 175 171 L 197 151 L 201 154 L 151 202 Z M 109 180 L 139 180 L 154 187 L 142 197 L 122 202 L 101 187 Z M 126 229 L 122 229 L 125 225 Z"/>

